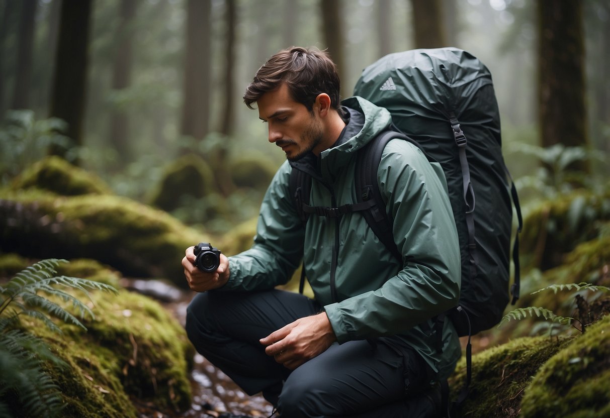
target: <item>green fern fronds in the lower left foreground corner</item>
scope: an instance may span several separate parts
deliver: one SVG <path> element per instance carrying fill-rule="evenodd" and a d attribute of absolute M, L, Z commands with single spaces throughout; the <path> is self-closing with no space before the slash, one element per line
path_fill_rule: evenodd
<path fill-rule="evenodd" d="M 42 260 L 26 267 L 0 286 L 0 416 L 59 416 L 62 400 L 59 388 L 46 372 L 44 363 L 66 364 L 51 352 L 42 339 L 19 329 L 19 316 L 34 317 L 50 330 L 61 332 L 51 317 L 68 324 L 85 326 L 58 303 L 38 295 L 70 302 L 80 316 L 93 317 L 91 309 L 65 289 L 117 292 L 112 286 L 76 277 L 57 276 L 56 268 L 66 260 Z M 9 309 L 10 308 L 10 309 Z"/>

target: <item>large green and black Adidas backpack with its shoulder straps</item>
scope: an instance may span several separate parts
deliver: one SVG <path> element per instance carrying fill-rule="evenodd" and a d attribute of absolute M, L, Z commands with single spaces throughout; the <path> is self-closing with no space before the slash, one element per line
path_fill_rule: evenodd
<path fill-rule="evenodd" d="M 502 157 L 500 115 L 489 70 L 473 55 L 456 48 L 398 52 L 365 68 L 354 96 L 387 108 L 394 128 L 406 135 L 381 133 L 357 153 L 356 205 L 310 207 L 311 179 L 293 169 L 290 189 L 302 219 L 306 221 L 307 214 L 336 216 L 345 210 L 361 211 L 380 241 L 401 261 L 391 226 L 400 219 L 391 219 L 385 211 L 377 170 L 390 140 L 403 138 L 416 143 L 445 172 L 458 229 L 461 296 L 459 306 L 447 315 L 460 336 L 498 324 L 509 301 L 511 194 L 519 232 L 522 219 L 517 192 Z M 519 297 L 518 243 L 517 235 L 512 303 Z"/>

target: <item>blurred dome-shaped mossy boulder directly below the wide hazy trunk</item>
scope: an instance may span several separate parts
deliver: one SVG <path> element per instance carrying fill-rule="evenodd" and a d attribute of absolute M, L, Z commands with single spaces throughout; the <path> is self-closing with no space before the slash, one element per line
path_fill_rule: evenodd
<path fill-rule="evenodd" d="M 172 211 L 185 197 L 201 199 L 213 190 L 213 172 L 209 164 L 195 154 L 187 154 L 163 170 L 162 179 L 150 199 L 151 205 Z"/>

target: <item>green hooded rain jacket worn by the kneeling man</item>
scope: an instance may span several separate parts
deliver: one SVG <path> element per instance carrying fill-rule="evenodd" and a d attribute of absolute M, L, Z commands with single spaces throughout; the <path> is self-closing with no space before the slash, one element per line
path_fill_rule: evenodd
<path fill-rule="evenodd" d="M 361 97 L 342 103 L 350 114 L 334 147 L 284 163 L 265 194 L 251 249 L 229 258 L 223 290 L 250 291 L 284 284 L 304 260 L 315 299 L 324 307 L 341 344 L 398 335 L 439 377 L 461 355 L 453 325 L 445 321 L 442 351 L 431 318 L 456 306 L 461 259 L 458 234 L 442 169 L 404 140 L 384 149 L 379 190 L 394 219 L 400 265 L 359 213 L 341 218 L 298 218 L 289 195 L 292 169 L 314 176 L 309 204 L 338 207 L 356 202 L 356 151 L 389 127 L 385 108 Z"/>

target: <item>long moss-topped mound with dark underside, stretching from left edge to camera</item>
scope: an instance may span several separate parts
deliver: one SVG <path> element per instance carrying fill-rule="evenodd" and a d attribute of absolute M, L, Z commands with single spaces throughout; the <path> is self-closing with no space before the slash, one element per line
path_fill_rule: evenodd
<path fill-rule="evenodd" d="M 32 258 L 91 258 L 129 277 L 187 287 L 184 250 L 203 233 L 119 196 L 0 193 L 0 250 Z"/>

